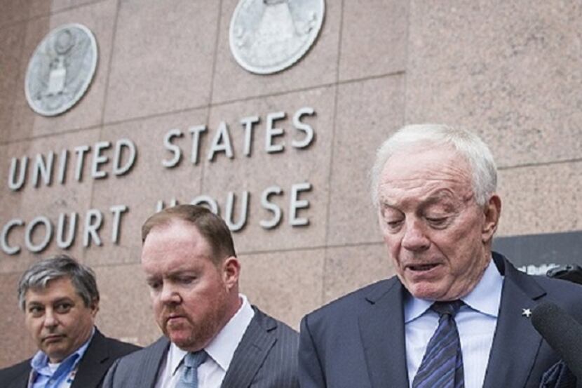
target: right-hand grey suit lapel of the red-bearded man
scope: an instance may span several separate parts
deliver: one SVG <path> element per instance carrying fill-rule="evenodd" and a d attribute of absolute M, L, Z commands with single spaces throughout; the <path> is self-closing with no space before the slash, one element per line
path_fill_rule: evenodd
<path fill-rule="evenodd" d="M 222 388 L 250 387 L 253 377 L 276 342 L 271 333 L 276 328 L 275 320 L 255 309 L 255 316 L 234 352 L 229 369 L 226 370 Z"/>

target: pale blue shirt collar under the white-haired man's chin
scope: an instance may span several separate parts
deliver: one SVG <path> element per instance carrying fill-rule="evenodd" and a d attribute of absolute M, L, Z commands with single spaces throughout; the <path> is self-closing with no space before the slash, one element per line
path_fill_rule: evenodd
<path fill-rule="evenodd" d="M 471 309 L 485 315 L 497 317 L 499 303 L 501 302 L 501 290 L 503 289 L 503 276 L 499 273 L 493 260 L 485 269 L 483 276 L 471 293 L 461 300 Z M 424 300 L 406 293 L 404 302 L 404 323 L 414 321 L 424 314 L 433 304 L 433 300 Z"/>

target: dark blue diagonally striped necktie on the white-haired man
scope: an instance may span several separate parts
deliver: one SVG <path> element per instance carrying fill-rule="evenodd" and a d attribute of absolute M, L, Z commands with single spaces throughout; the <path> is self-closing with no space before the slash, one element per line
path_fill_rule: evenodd
<path fill-rule="evenodd" d="M 431 306 L 440 316 L 438 328 L 428 341 L 412 388 L 463 388 L 463 354 L 454 315 L 463 302 L 434 302 Z"/>

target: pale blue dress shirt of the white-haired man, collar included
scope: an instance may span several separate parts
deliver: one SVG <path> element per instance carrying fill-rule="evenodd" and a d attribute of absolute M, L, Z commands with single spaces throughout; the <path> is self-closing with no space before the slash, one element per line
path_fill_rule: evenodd
<path fill-rule="evenodd" d="M 465 305 L 456 313 L 454 320 L 459 329 L 463 352 L 465 388 L 483 386 L 502 288 L 503 276 L 491 260 L 477 286 L 466 297 L 461 298 Z M 406 363 L 410 387 L 426 352 L 428 341 L 438 327 L 438 314 L 429 309 L 432 304 L 433 301 L 410 295 L 405 300 Z"/>

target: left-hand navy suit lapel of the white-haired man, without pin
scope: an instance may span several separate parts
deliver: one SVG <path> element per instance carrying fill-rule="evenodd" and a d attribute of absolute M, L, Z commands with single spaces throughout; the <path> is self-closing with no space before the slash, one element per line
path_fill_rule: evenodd
<path fill-rule="evenodd" d="M 372 388 L 408 387 L 402 292 L 397 279 L 377 288 L 358 318 Z"/>

